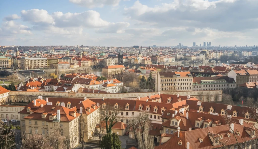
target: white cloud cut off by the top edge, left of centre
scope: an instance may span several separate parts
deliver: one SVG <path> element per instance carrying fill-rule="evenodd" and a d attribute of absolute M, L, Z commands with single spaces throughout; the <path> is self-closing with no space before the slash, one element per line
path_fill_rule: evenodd
<path fill-rule="evenodd" d="M 87 8 L 103 7 L 104 5 L 118 6 L 120 0 L 69 0 L 71 3 Z"/>

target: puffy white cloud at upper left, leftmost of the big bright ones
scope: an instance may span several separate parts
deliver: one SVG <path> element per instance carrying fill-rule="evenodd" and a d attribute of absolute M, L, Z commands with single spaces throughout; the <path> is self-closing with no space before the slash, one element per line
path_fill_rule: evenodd
<path fill-rule="evenodd" d="M 29 21 L 31 23 L 54 24 L 53 17 L 43 9 L 22 10 L 21 17 L 24 21 Z"/>

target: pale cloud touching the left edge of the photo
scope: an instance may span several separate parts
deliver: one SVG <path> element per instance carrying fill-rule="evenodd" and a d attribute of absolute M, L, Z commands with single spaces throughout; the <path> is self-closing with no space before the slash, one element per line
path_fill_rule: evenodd
<path fill-rule="evenodd" d="M 1 36 L 12 36 L 14 34 L 32 34 L 32 33 L 28 26 L 17 24 L 13 20 L 2 23 L 2 26 L 0 28 Z"/>

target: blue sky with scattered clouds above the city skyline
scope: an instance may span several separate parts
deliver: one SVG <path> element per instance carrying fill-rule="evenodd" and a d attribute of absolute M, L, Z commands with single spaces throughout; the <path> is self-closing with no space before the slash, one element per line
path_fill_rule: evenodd
<path fill-rule="evenodd" d="M 8 0 L 0 5 L 0 46 L 258 44 L 258 0 Z"/>

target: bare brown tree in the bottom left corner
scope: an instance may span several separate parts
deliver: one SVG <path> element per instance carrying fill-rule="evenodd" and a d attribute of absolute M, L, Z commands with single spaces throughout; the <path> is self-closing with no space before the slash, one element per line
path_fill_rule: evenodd
<path fill-rule="evenodd" d="M 16 133 L 13 130 L 11 130 L 7 125 L 5 125 L 2 121 L 0 121 L 0 148 L 15 148 L 15 136 Z"/>

